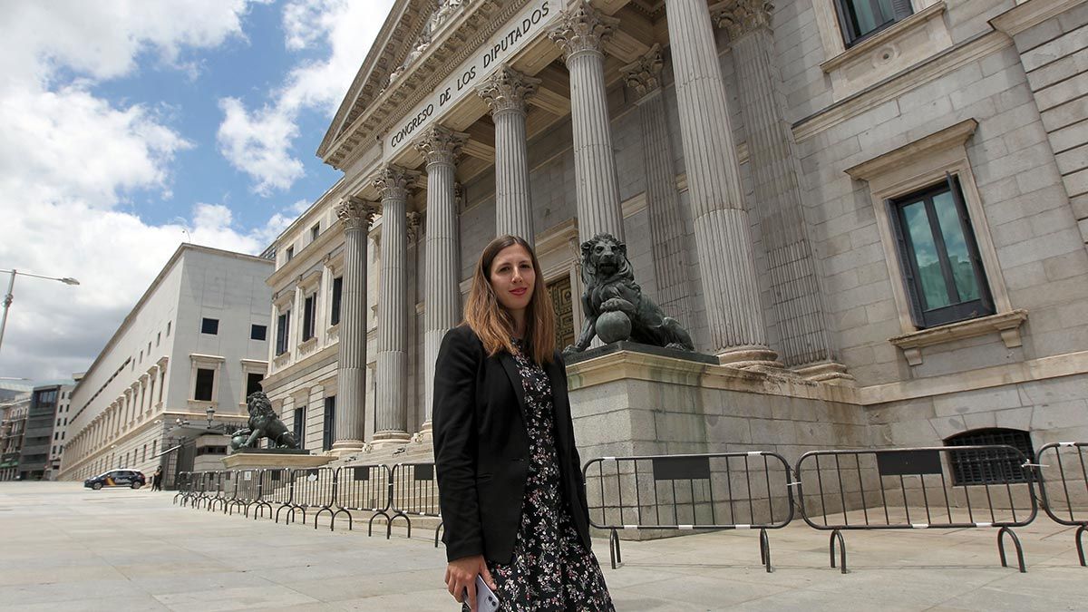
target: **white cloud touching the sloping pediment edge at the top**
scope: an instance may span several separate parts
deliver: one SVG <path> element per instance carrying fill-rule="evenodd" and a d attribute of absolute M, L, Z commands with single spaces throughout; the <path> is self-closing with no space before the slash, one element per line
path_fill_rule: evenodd
<path fill-rule="evenodd" d="M 332 118 L 392 7 L 393 0 L 294 0 L 284 5 L 287 49 L 327 46 L 329 54 L 320 61 L 300 59 L 259 109 L 248 111 L 233 98 L 221 100 L 220 151 L 256 181 L 257 193 L 286 189 L 302 176 L 302 163 L 292 151 L 299 113 Z"/>

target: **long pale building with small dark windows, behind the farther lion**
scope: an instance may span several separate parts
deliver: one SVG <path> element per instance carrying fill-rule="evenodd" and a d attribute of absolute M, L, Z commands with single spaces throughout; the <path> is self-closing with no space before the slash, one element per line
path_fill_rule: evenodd
<path fill-rule="evenodd" d="M 60 479 L 127 467 L 191 469 L 225 449 L 268 363 L 272 261 L 183 244 L 71 395 Z"/>

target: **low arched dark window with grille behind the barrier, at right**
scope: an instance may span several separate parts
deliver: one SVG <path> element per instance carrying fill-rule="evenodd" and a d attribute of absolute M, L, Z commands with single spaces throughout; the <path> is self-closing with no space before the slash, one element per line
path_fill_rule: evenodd
<path fill-rule="evenodd" d="M 957 433 L 944 440 L 945 446 L 981 446 L 1004 444 L 1012 446 L 1024 456 L 1031 460 L 1035 451 L 1031 449 L 1031 437 L 1019 429 L 973 429 Z M 1027 482 L 1030 470 L 1021 465 L 1018 456 L 1010 456 L 1007 452 L 993 450 L 953 451 L 949 453 L 952 468 L 952 485 L 1004 485 L 1010 482 Z"/>

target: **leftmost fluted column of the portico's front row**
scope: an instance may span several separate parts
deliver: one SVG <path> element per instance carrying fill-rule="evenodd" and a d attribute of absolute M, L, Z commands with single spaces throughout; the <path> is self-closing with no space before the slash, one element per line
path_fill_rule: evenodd
<path fill-rule="evenodd" d="M 367 427 L 367 234 L 375 203 L 351 196 L 336 207 L 344 227 L 339 346 L 336 350 L 336 420 L 333 452 L 362 450 Z M 301 443 L 301 440 L 299 440 Z"/>

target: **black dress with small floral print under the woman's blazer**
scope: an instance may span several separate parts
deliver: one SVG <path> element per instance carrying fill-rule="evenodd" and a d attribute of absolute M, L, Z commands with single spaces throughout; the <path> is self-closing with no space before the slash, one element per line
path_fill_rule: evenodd
<path fill-rule="evenodd" d="M 613 611 L 601 565 L 582 543 L 560 486 L 552 383 L 523 354 L 521 342 L 514 342 L 526 396 L 529 475 L 514 559 L 487 562 L 499 609 Z"/>

